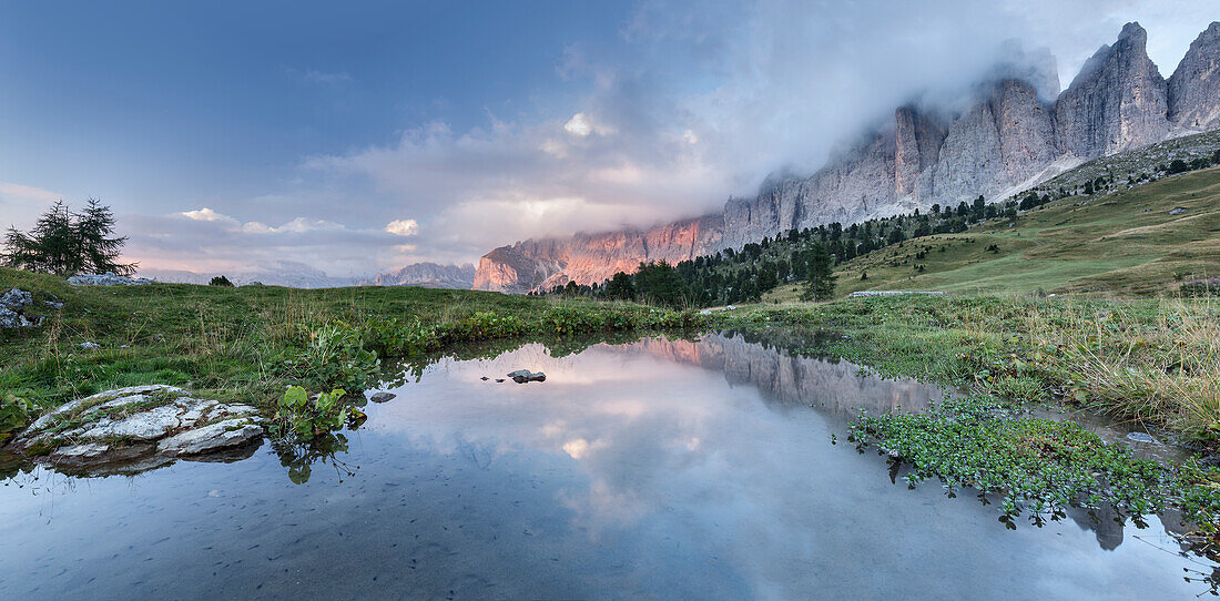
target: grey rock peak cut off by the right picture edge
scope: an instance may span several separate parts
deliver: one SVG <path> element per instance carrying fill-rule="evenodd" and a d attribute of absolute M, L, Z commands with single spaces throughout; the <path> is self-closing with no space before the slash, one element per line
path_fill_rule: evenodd
<path fill-rule="evenodd" d="M 1220 127 L 1220 21 L 1199 34 L 1169 78 L 1169 121 L 1197 130 Z"/>

